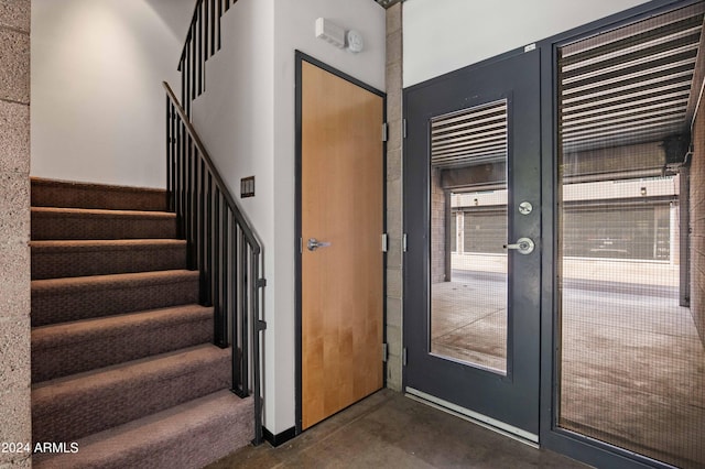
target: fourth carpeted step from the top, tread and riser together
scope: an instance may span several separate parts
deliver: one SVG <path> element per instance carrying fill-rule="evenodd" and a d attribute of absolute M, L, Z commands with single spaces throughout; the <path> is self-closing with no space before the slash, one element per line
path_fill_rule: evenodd
<path fill-rule="evenodd" d="M 32 326 L 198 302 L 198 272 L 173 270 L 32 281 Z"/>

